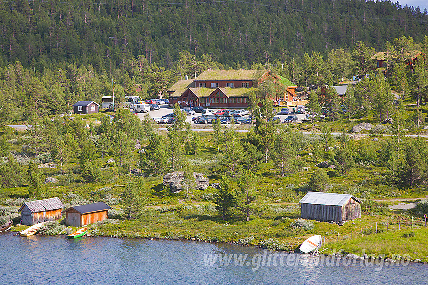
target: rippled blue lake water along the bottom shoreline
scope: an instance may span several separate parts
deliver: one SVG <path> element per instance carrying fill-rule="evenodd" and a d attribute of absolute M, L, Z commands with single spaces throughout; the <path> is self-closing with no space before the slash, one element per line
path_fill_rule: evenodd
<path fill-rule="evenodd" d="M 345 266 L 334 259 L 317 264 L 314 260 L 319 258 L 300 254 L 282 254 L 281 260 L 279 253 L 273 257 L 272 252 L 266 254 L 263 249 L 197 241 L 105 237 L 68 240 L 1 233 L 0 249 L 1 284 L 428 283 L 428 266 L 423 264 Z M 216 254 L 231 257 L 229 265 L 221 266 L 219 259 L 212 262 L 209 258 Z M 235 254 L 247 254 L 246 261 L 241 265 L 238 260 L 235 265 Z"/>

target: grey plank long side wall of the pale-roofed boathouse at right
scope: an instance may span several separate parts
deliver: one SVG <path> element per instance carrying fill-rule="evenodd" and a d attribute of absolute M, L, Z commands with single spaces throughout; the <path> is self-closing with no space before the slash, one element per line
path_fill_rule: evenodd
<path fill-rule="evenodd" d="M 342 221 L 340 206 L 301 203 L 302 218 L 317 221 Z"/>

